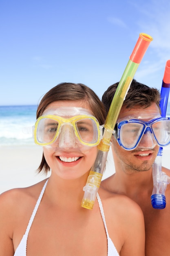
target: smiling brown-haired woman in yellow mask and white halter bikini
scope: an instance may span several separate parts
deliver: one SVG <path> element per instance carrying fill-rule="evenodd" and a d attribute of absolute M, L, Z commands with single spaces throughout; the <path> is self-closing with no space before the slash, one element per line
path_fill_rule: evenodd
<path fill-rule="evenodd" d="M 104 120 L 86 85 L 61 83 L 44 95 L 33 135 L 43 146 L 39 172 L 51 176 L 0 196 L 0 255 L 144 256 L 144 219 L 135 202 L 99 188 L 93 210 L 81 207 Z"/>

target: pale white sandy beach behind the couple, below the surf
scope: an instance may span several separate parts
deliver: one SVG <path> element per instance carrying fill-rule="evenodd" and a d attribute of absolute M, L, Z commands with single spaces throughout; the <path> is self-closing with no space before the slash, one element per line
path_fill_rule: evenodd
<path fill-rule="evenodd" d="M 163 148 L 162 165 L 170 169 L 170 146 Z M 37 168 L 42 158 L 42 148 L 31 146 L 0 147 L 0 193 L 16 188 L 31 186 L 46 178 L 38 174 Z M 111 149 L 108 152 L 106 171 L 102 179 L 115 172 Z"/>

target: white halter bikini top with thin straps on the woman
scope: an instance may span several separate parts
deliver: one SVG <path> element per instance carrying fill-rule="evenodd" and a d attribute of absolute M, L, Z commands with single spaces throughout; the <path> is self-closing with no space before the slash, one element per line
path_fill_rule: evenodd
<path fill-rule="evenodd" d="M 14 253 L 14 256 L 26 256 L 26 244 L 27 244 L 27 239 L 28 239 L 28 235 L 29 235 L 29 230 L 31 228 L 31 225 L 32 225 L 33 220 L 35 218 L 35 214 L 37 213 L 38 207 L 39 207 L 40 202 L 42 200 L 42 196 L 44 194 L 47 182 L 48 182 L 48 180 L 46 180 L 46 182 L 45 182 L 45 184 L 42 188 L 40 196 L 39 196 L 39 198 L 38 198 L 38 200 L 35 204 L 35 208 L 33 210 L 31 218 L 29 220 L 29 224 L 26 228 L 25 234 L 22 237 L 22 240 L 20 241 L 20 244 L 18 245 L 18 247 L 17 247 L 17 249 Z M 119 254 L 117 252 L 117 249 L 115 248 L 115 245 L 113 244 L 112 240 L 109 237 L 107 226 L 106 226 L 106 221 L 105 221 L 105 217 L 104 217 L 102 202 L 101 202 L 101 199 L 99 198 L 98 193 L 97 193 L 97 201 L 99 203 L 99 208 L 100 208 L 100 212 L 101 212 L 102 219 L 103 219 L 103 222 L 104 222 L 104 227 L 105 227 L 105 230 L 106 230 L 106 236 L 107 236 L 107 240 L 108 240 L 108 255 L 107 256 L 119 256 Z"/>

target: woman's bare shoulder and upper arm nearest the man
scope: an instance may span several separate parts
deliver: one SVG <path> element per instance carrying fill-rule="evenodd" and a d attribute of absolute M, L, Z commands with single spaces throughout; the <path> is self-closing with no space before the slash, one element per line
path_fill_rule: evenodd
<path fill-rule="evenodd" d="M 135 248 L 144 248 L 145 242 L 144 215 L 139 205 L 126 195 L 110 193 L 103 189 L 99 189 L 99 196 L 108 233 L 115 247 L 122 255 L 129 255 L 129 247 L 135 243 L 132 255 L 139 255 L 139 249 Z"/>

